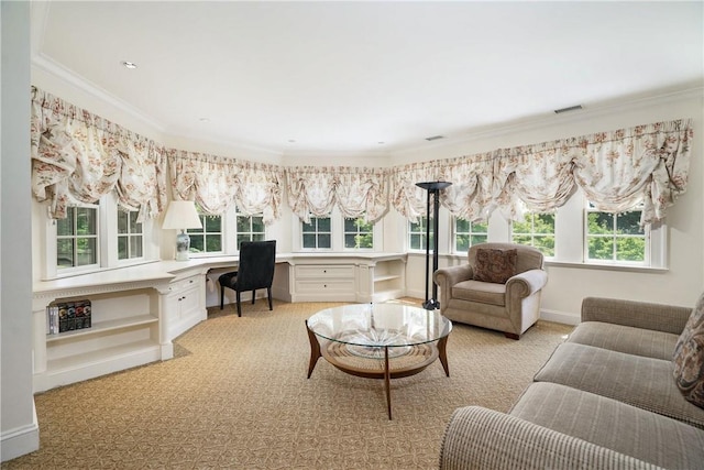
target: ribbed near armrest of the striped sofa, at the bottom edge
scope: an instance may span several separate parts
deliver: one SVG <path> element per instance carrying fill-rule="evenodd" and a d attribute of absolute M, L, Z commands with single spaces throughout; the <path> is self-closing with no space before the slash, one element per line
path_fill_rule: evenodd
<path fill-rule="evenodd" d="M 458 408 L 440 469 L 644 469 L 642 460 L 480 406 Z"/>

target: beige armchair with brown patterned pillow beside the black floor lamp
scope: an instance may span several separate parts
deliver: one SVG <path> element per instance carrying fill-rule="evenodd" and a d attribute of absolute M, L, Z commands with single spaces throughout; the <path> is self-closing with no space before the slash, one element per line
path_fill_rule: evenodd
<path fill-rule="evenodd" d="M 499 270 L 504 269 L 505 283 L 501 282 L 501 275 L 493 278 L 495 282 L 477 280 L 487 277 L 487 267 L 492 271 L 493 266 L 487 263 L 496 260 L 497 256 L 492 258 L 494 254 L 507 260 L 497 263 L 502 264 Z M 519 339 L 540 316 L 540 294 L 548 282 L 542 253 L 522 244 L 481 243 L 470 248 L 468 261 L 468 264 L 433 273 L 432 278 L 440 287 L 440 311 L 453 321 L 503 331 L 507 338 Z M 506 270 L 508 265 L 513 272 Z"/>

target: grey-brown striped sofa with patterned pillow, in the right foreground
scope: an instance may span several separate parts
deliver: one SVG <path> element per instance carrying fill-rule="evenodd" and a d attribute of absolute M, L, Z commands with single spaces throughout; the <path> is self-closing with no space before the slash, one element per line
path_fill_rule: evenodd
<path fill-rule="evenodd" d="M 588 297 L 508 413 L 458 408 L 441 469 L 704 468 L 704 295 Z"/>

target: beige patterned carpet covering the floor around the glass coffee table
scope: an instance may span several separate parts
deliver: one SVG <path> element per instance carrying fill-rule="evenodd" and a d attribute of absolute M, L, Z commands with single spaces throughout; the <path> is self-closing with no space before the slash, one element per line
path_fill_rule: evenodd
<path fill-rule="evenodd" d="M 400 302 L 419 303 L 404 299 Z M 3 469 L 432 469 L 452 411 L 507 411 L 572 328 L 539 321 L 520 341 L 455 325 L 440 362 L 392 381 L 320 359 L 306 379 L 304 320 L 331 303 L 212 309 L 176 358 L 35 396 L 41 449 Z"/>

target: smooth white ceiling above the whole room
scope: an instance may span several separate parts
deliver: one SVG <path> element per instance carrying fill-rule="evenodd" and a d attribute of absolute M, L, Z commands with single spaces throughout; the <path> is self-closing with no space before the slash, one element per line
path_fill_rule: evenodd
<path fill-rule="evenodd" d="M 388 153 L 701 87 L 703 6 L 35 2 L 33 66 L 167 135 L 283 155 Z"/>

